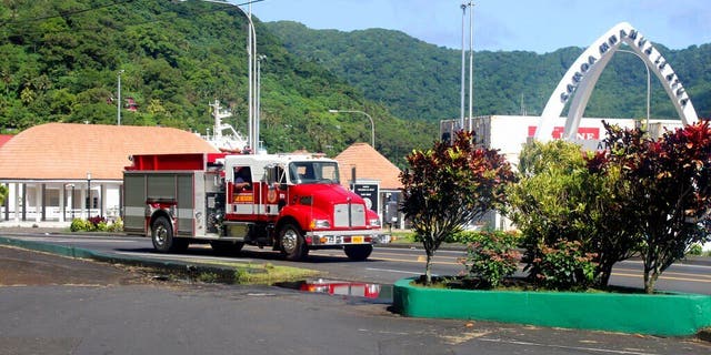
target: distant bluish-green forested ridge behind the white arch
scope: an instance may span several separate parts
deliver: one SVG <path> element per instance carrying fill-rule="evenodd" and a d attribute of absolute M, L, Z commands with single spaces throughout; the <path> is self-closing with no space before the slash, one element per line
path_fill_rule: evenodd
<path fill-rule="evenodd" d="M 460 115 L 461 50 L 392 30 L 312 30 L 290 21 L 267 26 L 290 52 L 331 70 L 397 116 L 437 121 Z M 654 45 L 681 78 L 699 115 L 711 118 L 711 44 L 683 50 Z M 558 81 L 584 50 L 571 47 L 544 54 L 474 51 L 473 114 L 539 115 Z M 651 115 L 678 118 L 653 74 L 651 90 Z M 618 52 L 602 72 L 585 116 L 642 118 L 645 102 L 643 62 Z"/>

